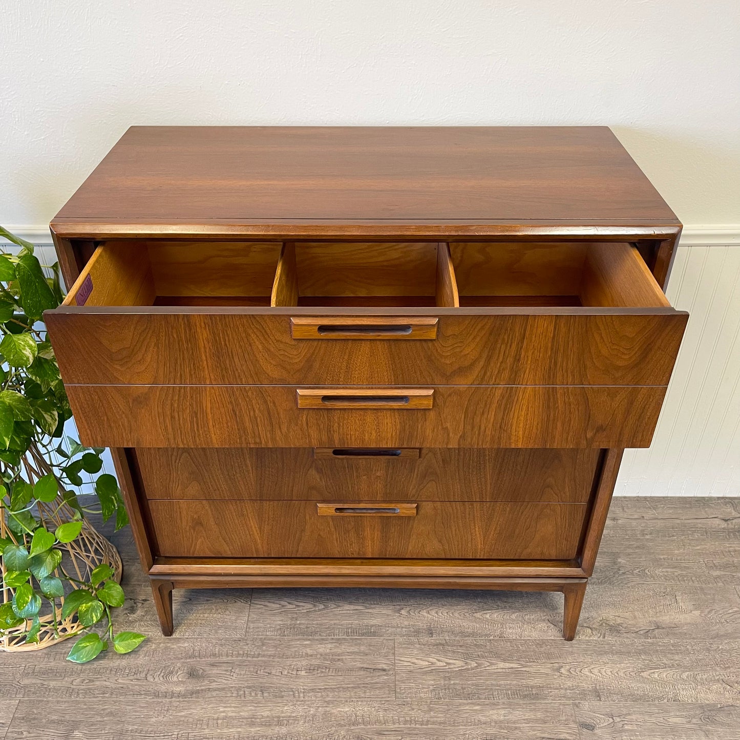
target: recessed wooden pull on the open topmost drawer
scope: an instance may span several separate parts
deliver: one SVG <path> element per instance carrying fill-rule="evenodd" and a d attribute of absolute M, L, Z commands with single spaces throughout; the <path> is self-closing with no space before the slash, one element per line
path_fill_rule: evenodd
<path fill-rule="evenodd" d="M 294 316 L 293 339 L 436 339 L 439 319 L 430 316 Z"/>

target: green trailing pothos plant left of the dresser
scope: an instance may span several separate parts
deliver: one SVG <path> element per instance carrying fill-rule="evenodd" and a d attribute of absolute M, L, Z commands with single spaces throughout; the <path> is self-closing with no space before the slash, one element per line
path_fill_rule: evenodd
<path fill-rule="evenodd" d="M 88 662 L 109 643 L 129 653 L 144 635 L 113 632 L 111 609 L 124 603 L 113 568 L 101 563 L 79 577 L 78 568 L 65 569 L 63 562 L 70 543 L 84 535 L 85 514 L 102 514 L 104 521 L 115 517 L 116 530 L 128 517 L 115 478 L 101 474 L 103 449 L 64 437 L 72 412 L 41 323 L 43 312 L 63 300 L 58 263 L 42 266 L 33 245 L 1 227 L 0 236 L 21 248 L 0 253 L 0 515 L 6 535 L 0 552 L 3 593 L 13 595 L 0 604 L 0 636 L 13 630 L 17 637 L 20 630 L 26 643 L 38 642 L 39 613 L 48 602 L 57 638 L 58 618 L 76 615 L 82 628 L 104 625 L 101 634 L 79 638 L 68 659 Z M 83 471 L 95 477 L 94 506 L 75 493 Z M 50 531 L 54 519 L 42 511 L 53 514 L 62 507 L 72 514 Z"/>

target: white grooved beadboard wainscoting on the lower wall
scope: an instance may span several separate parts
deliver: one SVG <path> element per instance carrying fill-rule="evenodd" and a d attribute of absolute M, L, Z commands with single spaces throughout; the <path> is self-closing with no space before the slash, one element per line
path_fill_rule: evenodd
<path fill-rule="evenodd" d="M 55 261 L 47 230 L 16 228 Z M 740 226 L 685 228 L 667 295 L 690 320 L 653 444 L 625 452 L 614 494 L 740 496 Z"/>

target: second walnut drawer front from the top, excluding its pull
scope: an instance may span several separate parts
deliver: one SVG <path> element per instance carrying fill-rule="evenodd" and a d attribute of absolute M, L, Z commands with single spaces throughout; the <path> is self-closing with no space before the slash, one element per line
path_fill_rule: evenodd
<path fill-rule="evenodd" d="M 389 389 L 393 391 L 393 388 Z M 662 386 L 440 386 L 431 408 L 298 408 L 289 386 L 67 386 L 106 447 L 647 447 Z"/>

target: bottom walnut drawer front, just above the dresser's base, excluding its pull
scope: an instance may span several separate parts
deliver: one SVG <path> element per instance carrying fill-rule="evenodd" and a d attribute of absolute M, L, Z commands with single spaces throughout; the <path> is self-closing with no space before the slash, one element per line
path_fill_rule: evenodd
<path fill-rule="evenodd" d="M 149 502 L 158 555 L 169 557 L 570 559 L 587 509 L 420 502 L 414 516 L 320 516 L 314 501 Z"/>

